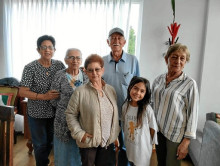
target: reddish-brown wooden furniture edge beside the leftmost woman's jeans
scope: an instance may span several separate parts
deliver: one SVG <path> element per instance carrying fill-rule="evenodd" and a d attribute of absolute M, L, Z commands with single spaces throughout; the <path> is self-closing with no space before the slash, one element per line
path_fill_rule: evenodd
<path fill-rule="evenodd" d="M 24 138 L 28 139 L 26 146 L 28 147 L 28 153 L 32 154 L 33 151 L 33 145 L 31 140 L 31 133 L 28 125 L 28 119 L 27 119 L 27 100 L 21 101 L 21 109 L 23 110 L 24 114 Z"/>

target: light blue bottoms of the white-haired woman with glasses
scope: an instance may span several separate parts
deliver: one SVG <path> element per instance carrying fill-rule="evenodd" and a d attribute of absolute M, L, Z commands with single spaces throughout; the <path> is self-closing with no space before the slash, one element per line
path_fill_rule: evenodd
<path fill-rule="evenodd" d="M 55 166 L 80 166 L 81 157 L 76 140 L 63 142 L 54 135 L 54 164 Z"/>

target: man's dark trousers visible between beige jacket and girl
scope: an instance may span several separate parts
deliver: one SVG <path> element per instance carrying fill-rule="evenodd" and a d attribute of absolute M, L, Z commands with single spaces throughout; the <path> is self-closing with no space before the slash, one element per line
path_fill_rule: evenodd
<path fill-rule="evenodd" d="M 121 121 L 119 121 L 119 125 L 123 128 Z M 119 153 L 118 153 L 118 166 L 129 166 L 126 148 L 124 145 L 124 132 L 121 130 L 118 136 L 119 139 Z"/>

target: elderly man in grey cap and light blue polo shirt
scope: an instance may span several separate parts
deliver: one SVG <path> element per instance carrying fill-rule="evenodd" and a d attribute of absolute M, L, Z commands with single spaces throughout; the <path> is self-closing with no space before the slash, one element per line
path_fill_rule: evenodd
<path fill-rule="evenodd" d="M 127 96 L 128 85 L 133 76 L 139 76 L 139 63 L 135 56 L 126 53 L 123 47 L 126 43 L 124 31 L 120 28 L 110 30 L 107 43 L 111 48 L 109 55 L 103 57 L 105 72 L 103 79 L 112 85 L 117 93 L 117 105 L 119 119 L 121 119 L 121 107 Z M 127 165 L 127 157 L 123 143 L 123 132 L 119 135 L 120 152 L 118 165 Z"/>

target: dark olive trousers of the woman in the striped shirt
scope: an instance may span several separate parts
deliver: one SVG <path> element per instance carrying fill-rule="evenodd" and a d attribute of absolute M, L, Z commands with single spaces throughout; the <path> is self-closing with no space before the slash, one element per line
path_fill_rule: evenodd
<path fill-rule="evenodd" d="M 179 143 L 171 142 L 161 132 L 157 133 L 158 145 L 156 145 L 158 166 L 180 166 L 181 160 L 177 160 L 177 148 Z"/>

